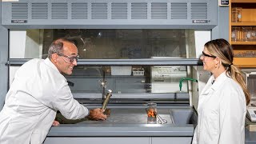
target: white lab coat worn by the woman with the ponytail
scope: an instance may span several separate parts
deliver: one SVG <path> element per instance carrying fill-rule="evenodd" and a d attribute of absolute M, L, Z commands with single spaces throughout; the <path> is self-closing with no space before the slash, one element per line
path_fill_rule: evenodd
<path fill-rule="evenodd" d="M 244 144 L 246 98 L 241 86 L 222 73 L 211 76 L 198 100 L 193 144 Z"/>

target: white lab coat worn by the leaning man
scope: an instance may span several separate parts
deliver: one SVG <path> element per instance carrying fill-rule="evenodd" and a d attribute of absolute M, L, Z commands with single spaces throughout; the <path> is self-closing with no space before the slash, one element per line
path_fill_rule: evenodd
<path fill-rule="evenodd" d="M 41 144 L 57 110 L 69 119 L 89 113 L 49 58 L 26 62 L 16 72 L 0 112 L 0 144 Z"/>

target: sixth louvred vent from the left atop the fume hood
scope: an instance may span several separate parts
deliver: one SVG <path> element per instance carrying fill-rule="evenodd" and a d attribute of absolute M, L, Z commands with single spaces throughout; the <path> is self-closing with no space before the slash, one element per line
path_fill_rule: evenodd
<path fill-rule="evenodd" d="M 127 3 L 111 3 L 111 19 L 127 19 Z"/>

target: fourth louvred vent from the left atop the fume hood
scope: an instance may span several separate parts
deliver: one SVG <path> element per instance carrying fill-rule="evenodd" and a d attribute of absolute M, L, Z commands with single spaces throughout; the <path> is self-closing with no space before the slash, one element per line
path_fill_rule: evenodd
<path fill-rule="evenodd" d="M 87 19 L 87 15 L 87 3 L 71 3 L 71 19 Z"/>

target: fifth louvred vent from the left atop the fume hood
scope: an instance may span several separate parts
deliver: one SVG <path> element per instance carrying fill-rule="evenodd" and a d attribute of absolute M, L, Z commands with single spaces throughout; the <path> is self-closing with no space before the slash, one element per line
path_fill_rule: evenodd
<path fill-rule="evenodd" d="M 107 3 L 91 3 L 92 19 L 107 19 Z"/>

